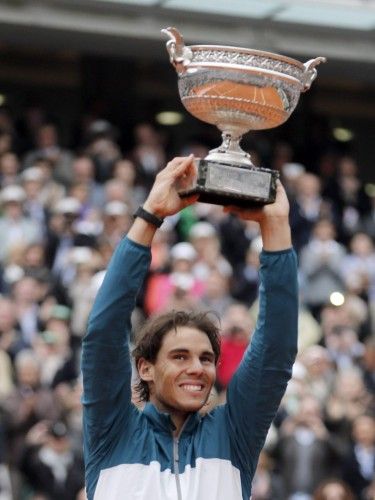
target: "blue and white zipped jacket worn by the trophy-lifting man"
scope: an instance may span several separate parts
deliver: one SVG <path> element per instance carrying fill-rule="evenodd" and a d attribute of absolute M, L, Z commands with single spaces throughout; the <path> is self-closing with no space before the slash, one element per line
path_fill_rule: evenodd
<path fill-rule="evenodd" d="M 249 500 L 297 349 L 295 253 L 262 252 L 257 326 L 227 404 L 191 414 L 176 438 L 168 414 L 131 403 L 130 315 L 149 263 L 148 247 L 119 244 L 83 340 L 88 499 Z"/>

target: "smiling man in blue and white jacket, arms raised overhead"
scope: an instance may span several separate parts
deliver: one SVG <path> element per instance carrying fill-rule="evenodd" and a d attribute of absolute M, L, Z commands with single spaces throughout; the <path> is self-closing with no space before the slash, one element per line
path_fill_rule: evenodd
<path fill-rule="evenodd" d="M 118 245 L 83 340 L 84 452 L 89 500 L 248 500 L 260 450 L 285 392 L 297 350 L 296 256 L 281 184 L 262 209 L 227 207 L 260 224 L 263 239 L 257 326 L 227 390 L 201 416 L 216 378 L 219 331 L 207 313 L 151 318 L 133 351 L 143 411 L 131 402 L 130 316 L 163 218 L 182 200 L 176 181 L 195 175 L 175 158 Z"/>

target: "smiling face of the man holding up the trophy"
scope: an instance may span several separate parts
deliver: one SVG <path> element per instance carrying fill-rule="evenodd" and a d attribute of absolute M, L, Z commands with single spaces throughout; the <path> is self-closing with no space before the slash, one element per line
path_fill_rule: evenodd
<path fill-rule="evenodd" d="M 216 378 L 209 338 L 187 326 L 164 336 L 157 359 L 148 369 L 151 402 L 172 415 L 200 410 Z"/>

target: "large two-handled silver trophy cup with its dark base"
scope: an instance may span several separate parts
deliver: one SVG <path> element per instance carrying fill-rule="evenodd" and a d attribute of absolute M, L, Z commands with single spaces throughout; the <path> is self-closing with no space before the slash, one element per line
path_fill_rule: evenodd
<path fill-rule="evenodd" d="M 271 52 L 221 45 L 184 44 L 176 28 L 162 30 L 178 74 L 180 98 L 189 113 L 216 125 L 222 144 L 198 160 L 197 177 L 178 187 L 181 197 L 218 205 L 261 206 L 275 201 L 276 170 L 255 167 L 240 147 L 249 130 L 277 127 L 315 80 L 315 66 Z"/>

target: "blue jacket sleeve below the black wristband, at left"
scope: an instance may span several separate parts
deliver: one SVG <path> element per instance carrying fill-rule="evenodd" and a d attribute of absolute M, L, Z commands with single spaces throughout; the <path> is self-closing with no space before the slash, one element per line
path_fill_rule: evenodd
<path fill-rule="evenodd" d="M 150 263 L 150 249 L 124 238 L 96 296 L 82 343 L 85 455 L 115 439 L 131 404 L 131 313 Z"/>

